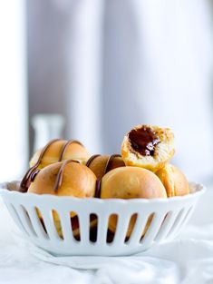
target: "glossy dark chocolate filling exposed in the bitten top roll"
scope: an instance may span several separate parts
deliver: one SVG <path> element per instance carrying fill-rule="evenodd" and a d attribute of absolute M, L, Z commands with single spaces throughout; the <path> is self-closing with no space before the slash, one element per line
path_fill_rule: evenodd
<path fill-rule="evenodd" d="M 156 132 L 146 126 L 132 129 L 128 137 L 131 142 L 131 147 L 136 152 L 140 152 L 143 156 L 154 156 L 156 145 L 160 143 Z"/>

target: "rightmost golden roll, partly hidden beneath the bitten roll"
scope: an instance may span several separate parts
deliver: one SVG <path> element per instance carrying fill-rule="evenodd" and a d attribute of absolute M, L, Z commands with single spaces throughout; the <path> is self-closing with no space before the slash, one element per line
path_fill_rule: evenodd
<path fill-rule="evenodd" d="M 156 175 L 162 181 L 167 196 L 182 196 L 189 194 L 189 182 L 187 178 L 179 171 L 179 169 L 172 164 L 166 164 L 162 169 L 156 172 Z"/>

